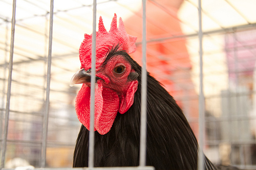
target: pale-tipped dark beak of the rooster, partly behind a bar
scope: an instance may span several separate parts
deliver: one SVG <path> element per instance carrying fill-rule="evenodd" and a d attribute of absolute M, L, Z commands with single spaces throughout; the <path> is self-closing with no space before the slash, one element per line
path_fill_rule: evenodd
<path fill-rule="evenodd" d="M 96 82 L 101 78 L 96 77 Z M 81 84 L 81 83 L 91 83 L 91 69 L 88 69 L 87 71 L 84 70 L 84 68 L 77 71 L 74 76 L 72 77 L 70 81 L 70 86 L 74 86 L 75 84 Z"/>

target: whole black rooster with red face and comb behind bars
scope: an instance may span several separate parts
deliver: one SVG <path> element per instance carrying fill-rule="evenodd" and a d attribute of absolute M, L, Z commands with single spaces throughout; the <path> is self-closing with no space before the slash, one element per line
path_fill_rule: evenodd
<path fill-rule="evenodd" d="M 110 31 L 102 18 L 96 33 L 95 124 L 90 127 L 92 35 L 79 48 L 81 70 L 71 84 L 82 83 L 76 113 L 82 123 L 73 167 L 88 166 L 89 130 L 95 132 L 94 165 L 138 166 L 140 142 L 141 66 L 130 57 L 136 37 L 122 19 L 113 17 Z M 146 165 L 156 169 L 197 169 L 198 142 L 182 110 L 162 85 L 147 73 Z M 205 169 L 215 166 L 204 156 Z"/>

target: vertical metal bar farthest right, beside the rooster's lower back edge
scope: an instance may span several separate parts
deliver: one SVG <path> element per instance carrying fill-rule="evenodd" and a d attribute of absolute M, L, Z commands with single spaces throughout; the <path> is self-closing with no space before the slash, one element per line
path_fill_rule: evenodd
<path fill-rule="evenodd" d="M 204 169 L 204 114 L 205 114 L 205 99 L 203 91 L 203 32 L 202 32 L 202 6 L 201 0 L 198 0 L 198 17 L 199 17 L 199 60 L 200 60 L 200 85 L 199 85 L 199 152 L 198 152 L 198 170 Z"/>

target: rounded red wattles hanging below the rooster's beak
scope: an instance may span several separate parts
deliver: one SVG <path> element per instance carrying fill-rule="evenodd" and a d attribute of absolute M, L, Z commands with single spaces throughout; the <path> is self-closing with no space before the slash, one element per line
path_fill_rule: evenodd
<path fill-rule="evenodd" d="M 76 98 L 76 113 L 79 121 L 90 130 L 90 87 L 83 85 Z M 95 87 L 94 130 L 99 134 L 108 133 L 119 109 L 119 98 L 115 91 L 103 88 L 98 81 Z"/>

